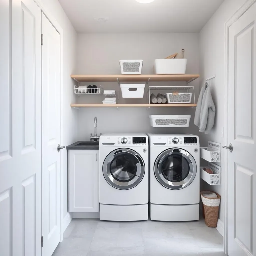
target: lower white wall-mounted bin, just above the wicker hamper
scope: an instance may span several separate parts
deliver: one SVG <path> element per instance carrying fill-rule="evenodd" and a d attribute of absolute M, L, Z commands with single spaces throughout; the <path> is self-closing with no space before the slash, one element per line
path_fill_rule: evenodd
<path fill-rule="evenodd" d="M 207 167 L 213 170 L 213 174 L 207 173 L 204 170 L 204 167 L 200 167 L 200 178 L 210 185 L 220 185 L 221 184 L 221 167 L 212 163 L 208 163 L 208 166 L 206 166 L 206 168 Z"/>

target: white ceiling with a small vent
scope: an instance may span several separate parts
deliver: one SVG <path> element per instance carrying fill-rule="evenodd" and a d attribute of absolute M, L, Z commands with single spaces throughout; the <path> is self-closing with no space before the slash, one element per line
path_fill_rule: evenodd
<path fill-rule="evenodd" d="M 80 33 L 199 32 L 223 1 L 59 0 Z"/>

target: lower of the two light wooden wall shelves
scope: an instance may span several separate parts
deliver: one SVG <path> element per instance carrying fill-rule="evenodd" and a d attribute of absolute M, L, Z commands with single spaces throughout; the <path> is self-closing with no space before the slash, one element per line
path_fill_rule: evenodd
<path fill-rule="evenodd" d="M 106 107 L 106 108 L 119 108 L 119 107 L 146 107 L 146 108 L 165 108 L 165 107 L 196 107 L 197 104 L 71 104 L 72 108 L 94 108 L 94 107 Z"/>

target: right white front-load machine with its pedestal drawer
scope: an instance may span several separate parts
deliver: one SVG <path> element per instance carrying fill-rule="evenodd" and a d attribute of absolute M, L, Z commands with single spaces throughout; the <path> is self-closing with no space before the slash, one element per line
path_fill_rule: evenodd
<path fill-rule="evenodd" d="M 191 134 L 148 134 L 150 218 L 199 219 L 199 138 Z"/>

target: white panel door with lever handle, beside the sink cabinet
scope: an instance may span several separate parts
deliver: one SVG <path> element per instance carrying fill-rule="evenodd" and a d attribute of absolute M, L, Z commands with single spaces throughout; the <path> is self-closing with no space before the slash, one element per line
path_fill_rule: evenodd
<path fill-rule="evenodd" d="M 60 242 L 60 35 L 44 14 L 42 34 L 43 255 L 50 256 Z"/>

